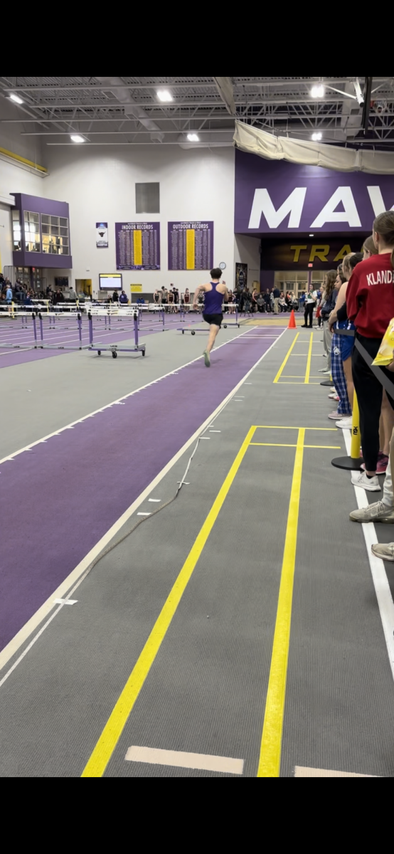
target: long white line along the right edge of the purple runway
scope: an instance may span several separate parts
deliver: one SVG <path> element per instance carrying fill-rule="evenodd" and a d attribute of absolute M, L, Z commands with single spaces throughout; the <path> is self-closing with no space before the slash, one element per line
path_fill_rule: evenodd
<path fill-rule="evenodd" d="M 287 330 L 283 330 L 283 333 L 286 331 Z M 88 570 L 89 570 L 89 567 L 90 567 L 90 564 L 92 563 L 92 561 L 96 557 L 98 557 L 98 555 L 103 551 L 103 549 L 108 545 L 108 543 L 111 542 L 111 540 L 113 540 L 113 537 L 119 533 L 119 530 L 121 528 L 123 528 L 123 526 L 126 522 L 128 522 L 128 520 L 130 519 L 130 516 L 132 516 L 133 513 L 136 512 L 138 507 L 140 507 L 142 505 L 143 501 L 145 501 L 148 498 L 149 494 L 154 491 L 154 489 L 163 480 L 163 477 L 165 477 L 165 475 L 168 474 L 169 471 L 171 471 L 172 466 L 177 463 L 178 459 L 181 459 L 181 457 L 183 456 L 183 453 L 185 453 L 185 451 L 188 450 L 188 447 L 190 447 L 190 445 L 193 445 L 195 440 L 200 436 L 200 433 L 203 430 L 206 430 L 206 427 L 208 427 L 208 425 L 211 424 L 212 420 L 214 421 L 215 418 L 217 418 L 217 416 L 223 412 L 223 408 L 229 403 L 231 398 L 237 393 L 238 389 L 240 389 L 240 386 L 242 385 L 242 383 L 245 382 L 246 377 L 250 377 L 252 371 L 254 371 L 255 368 L 258 367 L 260 362 L 263 361 L 263 359 L 265 359 L 265 356 L 269 354 L 269 351 L 273 347 L 275 347 L 275 342 L 270 344 L 268 350 L 266 350 L 265 353 L 259 357 L 257 362 L 255 362 L 255 364 L 249 369 L 249 371 L 247 371 L 247 373 L 245 374 L 245 377 L 242 377 L 240 382 L 237 383 L 237 385 L 235 385 L 234 389 L 232 389 L 232 391 L 229 392 L 229 395 L 227 395 L 227 397 L 225 397 L 224 400 L 221 403 L 219 403 L 219 406 L 213 412 L 211 412 L 211 415 L 208 418 L 206 418 L 206 421 L 204 421 L 204 423 L 200 425 L 198 430 L 195 430 L 193 436 L 190 436 L 188 441 L 184 443 L 183 447 L 181 447 L 179 449 L 179 451 L 177 451 L 177 453 L 174 454 L 172 459 L 170 459 L 170 461 L 167 463 L 167 465 L 165 465 L 164 468 L 161 471 L 159 471 L 159 474 L 156 475 L 156 477 L 154 477 L 154 480 L 148 484 L 147 488 L 145 488 L 143 490 L 143 492 L 140 495 L 138 495 L 138 498 L 136 498 L 136 500 L 133 501 L 132 504 L 130 504 L 130 507 L 128 507 L 124 513 L 122 513 L 122 516 L 119 516 L 119 519 L 117 520 L 117 522 L 115 522 L 111 526 L 111 528 L 109 528 L 107 530 L 107 533 L 101 537 L 101 540 L 96 542 L 96 546 L 94 546 L 93 548 L 90 549 L 90 552 L 88 552 L 85 555 L 85 557 L 79 562 L 79 564 L 77 564 L 77 566 L 72 570 L 72 572 L 70 572 L 70 574 L 67 576 L 67 578 L 65 578 L 65 580 L 63 582 L 61 582 L 59 587 L 54 590 L 54 592 L 49 596 L 49 598 L 45 602 L 43 602 L 43 605 L 41 605 L 41 607 L 38 608 L 38 611 L 36 611 L 35 614 L 33 614 L 32 617 L 30 617 L 30 619 L 27 620 L 27 623 L 25 623 L 25 625 L 22 626 L 20 631 L 17 632 L 16 635 L 14 635 L 14 637 L 12 638 L 12 640 L 9 641 L 7 646 L 4 646 L 3 650 L 0 652 L 0 670 L 2 670 L 3 667 L 5 667 L 5 665 L 9 662 L 9 659 L 14 656 L 15 652 L 18 652 L 18 650 L 20 649 L 20 646 L 22 646 L 22 644 L 25 643 L 27 638 L 30 637 L 30 635 L 32 635 L 32 632 L 35 629 L 37 629 L 38 626 L 40 625 L 40 623 L 43 622 L 45 617 L 48 616 L 49 611 L 51 611 L 51 609 L 53 608 L 54 597 L 56 597 L 58 599 L 66 599 L 67 595 L 72 596 L 72 594 L 75 592 L 75 590 L 84 581 L 84 578 L 88 573 Z M 196 361 L 196 360 L 194 360 L 194 361 Z M 107 407 L 105 407 L 105 408 L 107 408 Z M 57 436 L 57 433 L 54 435 Z M 37 444 L 37 442 L 36 442 L 36 444 Z M 72 585 L 74 585 L 74 586 L 72 587 Z M 70 590 L 70 587 L 72 587 L 72 590 Z M 58 610 L 60 610 L 61 607 L 63 607 L 63 605 L 60 605 Z M 53 615 L 51 615 L 48 622 L 45 623 L 45 626 L 43 626 L 43 628 L 39 630 L 38 635 L 35 635 L 35 638 L 33 638 L 31 644 L 29 644 L 29 646 L 26 647 L 26 650 L 24 650 L 24 652 L 22 653 L 20 658 L 18 658 L 18 661 L 21 661 L 21 659 L 25 657 L 27 650 L 31 648 L 32 644 L 35 642 L 35 640 L 38 638 L 38 636 L 42 635 L 43 629 L 47 625 L 49 625 L 52 618 L 53 618 Z M 12 668 L 9 670 L 9 673 L 12 672 L 12 670 L 14 670 L 16 664 L 17 663 L 14 663 L 12 665 Z M 7 677 L 8 677 L 8 674 L 6 674 L 6 676 L 4 676 L 3 681 L 5 681 L 5 679 Z M 3 681 L 0 681 L 0 687 L 3 684 Z"/>

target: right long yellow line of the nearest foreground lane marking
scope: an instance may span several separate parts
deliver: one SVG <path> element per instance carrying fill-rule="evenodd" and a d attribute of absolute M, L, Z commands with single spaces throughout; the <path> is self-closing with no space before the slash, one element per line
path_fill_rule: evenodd
<path fill-rule="evenodd" d="M 298 430 L 294 459 L 292 492 L 287 516 L 287 529 L 281 585 L 276 611 L 269 684 L 265 703 L 263 735 L 258 761 L 258 777 L 279 777 L 281 769 L 281 734 L 285 709 L 287 660 L 292 621 L 293 580 L 297 548 L 298 509 L 304 456 L 305 430 Z"/>

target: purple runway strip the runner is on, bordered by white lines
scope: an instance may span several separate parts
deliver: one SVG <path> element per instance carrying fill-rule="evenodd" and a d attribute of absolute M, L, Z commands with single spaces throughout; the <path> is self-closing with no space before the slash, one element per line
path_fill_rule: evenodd
<path fill-rule="evenodd" d="M 217 349 L 209 370 L 198 360 L 3 463 L 1 518 L 18 521 L 2 526 L 0 649 L 266 352 L 265 331 Z M 132 465 L 126 436 L 144 450 Z M 104 451 L 94 459 L 92 447 Z"/>

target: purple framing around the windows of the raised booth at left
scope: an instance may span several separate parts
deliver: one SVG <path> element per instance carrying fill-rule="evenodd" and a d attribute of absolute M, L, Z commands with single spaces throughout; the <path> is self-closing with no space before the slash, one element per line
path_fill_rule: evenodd
<path fill-rule="evenodd" d="M 43 199 L 42 196 L 26 196 L 25 193 L 10 193 L 14 196 L 14 207 L 20 211 L 20 228 L 22 250 L 13 252 L 14 266 L 48 267 L 61 270 L 72 269 L 72 256 L 49 254 L 47 252 L 26 252 L 25 230 L 23 223 L 23 211 L 32 213 L 49 213 L 52 216 L 64 216 L 68 219 L 68 241 L 71 253 L 70 241 L 70 214 L 67 202 L 56 202 L 55 199 Z M 41 229 L 40 229 L 41 230 Z"/>

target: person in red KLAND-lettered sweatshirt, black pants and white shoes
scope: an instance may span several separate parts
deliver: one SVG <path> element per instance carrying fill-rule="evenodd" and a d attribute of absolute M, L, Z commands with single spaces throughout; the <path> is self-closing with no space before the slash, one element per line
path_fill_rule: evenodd
<path fill-rule="evenodd" d="M 394 211 L 385 211 L 374 219 L 373 238 L 378 254 L 356 265 L 346 291 L 348 317 L 356 325 L 356 342 L 372 360 L 378 353 L 391 318 L 394 318 Z M 380 370 L 392 381 L 391 371 L 383 367 Z M 376 465 L 383 386 L 356 346 L 352 355 L 352 373 L 360 410 L 365 471 L 361 474 L 355 472 L 351 483 L 371 492 L 380 492 Z M 394 409 L 394 397 L 387 397 Z"/>

